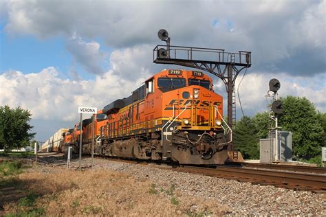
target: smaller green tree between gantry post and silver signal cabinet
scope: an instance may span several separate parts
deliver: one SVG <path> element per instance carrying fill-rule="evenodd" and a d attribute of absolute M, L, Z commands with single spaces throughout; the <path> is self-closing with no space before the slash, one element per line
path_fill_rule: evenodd
<path fill-rule="evenodd" d="M 235 128 L 235 147 L 245 159 L 259 159 L 259 129 L 253 117 L 243 116 Z"/>

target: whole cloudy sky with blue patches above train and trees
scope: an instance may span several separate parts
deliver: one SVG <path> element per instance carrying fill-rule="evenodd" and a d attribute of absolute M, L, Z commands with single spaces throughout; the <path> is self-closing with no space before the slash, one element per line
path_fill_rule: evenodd
<path fill-rule="evenodd" d="M 326 112 L 325 8 L 319 0 L 3 0 L 0 105 L 30 110 L 36 139 L 45 140 L 78 122 L 78 106 L 101 109 L 158 71 L 181 69 L 153 63 L 164 28 L 171 45 L 252 52 L 239 87 L 245 115 L 266 110 L 271 78 L 281 96 L 305 96 Z"/>

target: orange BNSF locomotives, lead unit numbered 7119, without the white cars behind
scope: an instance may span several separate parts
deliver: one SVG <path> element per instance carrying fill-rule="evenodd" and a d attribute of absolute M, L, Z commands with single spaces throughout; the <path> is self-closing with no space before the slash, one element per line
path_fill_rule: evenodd
<path fill-rule="evenodd" d="M 223 98 L 202 71 L 164 69 L 98 111 L 96 118 L 63 133 L 67 150 L 180 164 L 224 164 L 232 160 L 232 130 L 223 119 Z M 223 124 L 224 123 L 224 124 Z"/>

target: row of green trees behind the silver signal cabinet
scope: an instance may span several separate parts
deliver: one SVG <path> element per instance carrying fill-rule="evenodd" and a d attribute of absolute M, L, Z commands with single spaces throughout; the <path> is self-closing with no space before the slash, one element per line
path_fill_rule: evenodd
<path fill-rule="evenodd" d="M 307 98 L 287 96 L 281 98 L 283 114 L 279 126 L 292 132 L 294 159 L 320 157 L 321 147 L 326 141 L 326 113 L 316 110 Z M 274 127 L 270 112 L 257 113 L 254 117 L 243 116 L 236 123 L 235 147 L 245 159 L 259 159 L 259 139 L 268 138 Z"/>

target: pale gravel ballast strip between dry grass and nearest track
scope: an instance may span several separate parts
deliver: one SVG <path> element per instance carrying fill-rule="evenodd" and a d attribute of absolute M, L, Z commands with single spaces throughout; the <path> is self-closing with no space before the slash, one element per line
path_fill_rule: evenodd
<path fill-rule="evenodd" d="M 72 166 L 78 165 L 74 160 Z M 91 165 L 91 159 L 83 159 L 82 165 Z M 171 186 L 184 196 L 213 198 L 230 209 L 227 215 L 287 215 L 326 216 L 326 194 L 287 190 L 271 185 L 251 183 L 216 177 L 175 172 L 158 168 L 155 163 L 140 165 L 109 159 L 94 159 L 94 170 L 114 170 L 134 176 L 137 180 L 147 179 L 157 188 Z"/>

